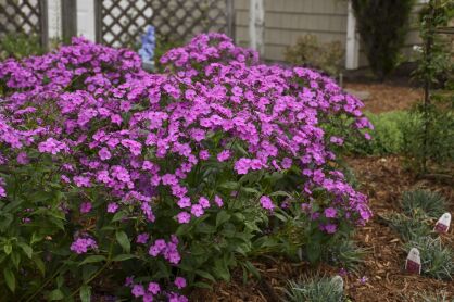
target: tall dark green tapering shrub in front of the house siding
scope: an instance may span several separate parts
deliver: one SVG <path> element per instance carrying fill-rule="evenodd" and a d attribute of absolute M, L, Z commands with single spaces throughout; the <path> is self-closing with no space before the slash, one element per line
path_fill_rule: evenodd
<path fill-rule="evenodd" d="M 370 68 L 383 79 L 398 65 L 414 0 L 352 0 Z"/>

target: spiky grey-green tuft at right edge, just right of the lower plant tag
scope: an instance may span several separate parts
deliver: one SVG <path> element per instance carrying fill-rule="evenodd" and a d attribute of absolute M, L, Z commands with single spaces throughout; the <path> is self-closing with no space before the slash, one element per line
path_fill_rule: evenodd
<path fill-rule="evenodd" d="M 454 275 L 454 252 L 443 247 L 440 237 L 429 236 L 416 238 L 405 244 L 408 252 L 417 248 L 421 257 L 421 272 L 424 275 L 441 280 L 452 280 Z"/>

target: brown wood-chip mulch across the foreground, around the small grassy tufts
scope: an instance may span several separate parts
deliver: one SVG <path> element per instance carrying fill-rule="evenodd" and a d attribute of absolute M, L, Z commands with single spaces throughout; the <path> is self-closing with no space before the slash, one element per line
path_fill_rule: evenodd
<path fill-rule="evenodd" d="M 454 184 L 434 180 L 417 180 L 403 168 L 398 156 L 349 159 L 362 191 L 368 194 L 375 213 L 373 219 L 358 230 L 356 241 L 369 252 L 365 257 L 362 274 L 344 276 L 345 292 L 351 301 L 421 301 L 420 293 L 445 292 L 454 299 L 454 282 L 429 277 L 407 275 L 403 270 L 405 253 L 399 235 L 386 226 L 382 214 L 398 211 L 398 201 L 403 191 L 414 188 L 430 188 L 440 191 L 451 201 L 454 210 Z M 443 242 L 454 248 L 454 231 L 443 236 Z M 213 291 L 198 290 L 191 301 L 281 301 L 283 287 L 290 279 L 320 274 L 335 275 L 339 268 L 321 264 L 311 267 L 306 263 L 290 263 L 281 259 L 266 259 L 254 263 L 262 280 L 242 281 L 242 272 L 237 272 L 232 282 L 218 284 Z M 361 280 L 363 277 L 366 280 Z"/>

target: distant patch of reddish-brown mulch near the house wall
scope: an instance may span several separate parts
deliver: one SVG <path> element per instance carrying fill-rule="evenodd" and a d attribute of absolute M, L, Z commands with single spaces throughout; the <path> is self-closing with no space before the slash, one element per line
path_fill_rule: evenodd
<path fill-rule="evenodd" d="M 381 113 L 394 110 L 407 110 L 423 99 L 423 89 L 409 86 L 383 84 L 348 83 L 345 88 L 356 91 L 368 91 L 369 98 L 364 100 L 364 110 Z"/>

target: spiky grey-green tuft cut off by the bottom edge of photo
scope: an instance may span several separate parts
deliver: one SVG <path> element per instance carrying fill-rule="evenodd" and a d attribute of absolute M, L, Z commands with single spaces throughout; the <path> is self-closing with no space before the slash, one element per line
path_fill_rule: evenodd
<path fill-rule="evenodd" d="M 343 282 L 340 277 L 313 277 L 300 281 L 289 281 L 286 298 L 286 301 L 289 302 L 343 301 Z"/>

